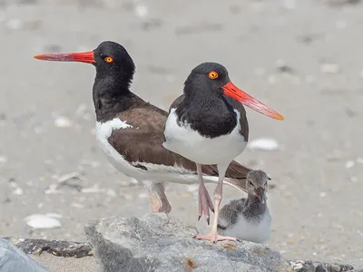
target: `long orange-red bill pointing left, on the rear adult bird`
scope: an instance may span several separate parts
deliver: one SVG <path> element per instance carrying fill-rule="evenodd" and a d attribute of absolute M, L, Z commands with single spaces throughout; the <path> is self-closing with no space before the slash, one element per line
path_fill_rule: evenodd
<path fill-rule="evenodd" d="M 54 62 L 80 62 L 80 63 L 95 63 L 94 53 L 83 52 L 83 53 L 48 53 L 48 54 L 37 54 L 34 55 L 35 59 L 43 61 L 54 61 Z"/>

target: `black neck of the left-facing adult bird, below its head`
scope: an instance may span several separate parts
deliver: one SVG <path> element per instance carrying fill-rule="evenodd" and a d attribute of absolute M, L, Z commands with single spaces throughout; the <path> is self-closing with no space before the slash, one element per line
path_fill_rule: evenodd
<path fill-rule="evenodd" d="M 118 74 L 97 73 L 93 83 L 93 104 L 97 121 L 109 121 L 132 107 L 131 80 Z"/>

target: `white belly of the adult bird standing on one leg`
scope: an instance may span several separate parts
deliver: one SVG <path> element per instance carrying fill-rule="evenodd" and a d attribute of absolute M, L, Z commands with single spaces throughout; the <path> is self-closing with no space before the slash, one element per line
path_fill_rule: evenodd
<path fill-rule="evenodd" d="M 240 112 L 237 120 L 240 120 Z M 240 122 L 228 135 L 205 138 L 198 131 L 191 130 L 190 124 L 178 125 L 175 109 L 171 110 L 164 131 L 166 141 L 163 146 L 183 157 L 201 164 L 229 164 L 246 148 L 247 142 L 240 135 Z"/>

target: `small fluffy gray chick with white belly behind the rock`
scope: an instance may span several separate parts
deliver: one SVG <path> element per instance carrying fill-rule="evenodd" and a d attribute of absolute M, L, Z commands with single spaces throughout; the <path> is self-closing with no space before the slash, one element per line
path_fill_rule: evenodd
<path fill-rule="evenodd" d="M 271 215 L 266 202 L 267 181 L 264 171 L 247 175 L 247 199 L 234 199 L 221 209 L 218 233 L 254 243 L 270 238 Z"/>

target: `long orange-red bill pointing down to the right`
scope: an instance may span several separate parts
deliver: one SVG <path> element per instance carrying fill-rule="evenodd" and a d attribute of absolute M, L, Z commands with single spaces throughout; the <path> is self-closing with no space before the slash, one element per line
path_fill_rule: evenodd
<path fill-rule="evenodd" d="M 249 107 L 250 109 L 260 112 L 270 118 L 277 119 L 277 120 L 284 120 L 283 116 L 279 112 L 275 112 L 274 110 L 270 109 L 264 103 L 258 101 L 257 99 L 250 96 L 246 92 L 240 90 L 235 84 L 229 82 L 222 87 L 224 94 L 230 96 L 234 100 L 241 102 L 245 106 Z"/>

